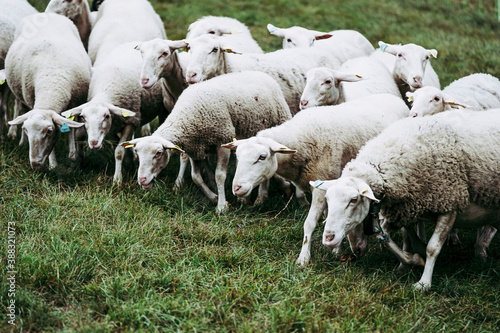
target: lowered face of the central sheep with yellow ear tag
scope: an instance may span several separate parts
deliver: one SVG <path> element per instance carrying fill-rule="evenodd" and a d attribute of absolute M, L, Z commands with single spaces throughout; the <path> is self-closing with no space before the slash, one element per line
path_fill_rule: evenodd
<path fill-rule="evenodd" d="M 153 186 L 153 180 L 167 166 L 172 149 L 179 150 L 171 142 L 157 136 L 135 139 L 126 144 L 134 145 L 139 158 L 137 181 L 145 190 Z"/>

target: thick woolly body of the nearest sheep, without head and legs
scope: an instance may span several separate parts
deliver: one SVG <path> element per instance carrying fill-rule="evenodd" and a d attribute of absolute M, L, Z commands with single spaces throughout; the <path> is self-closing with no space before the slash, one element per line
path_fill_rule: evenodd
<path fill-rule="evenodd" d="M 401 227 L 424 214 L 500 204 L 500 110 L 399 121 L 369 141 L 342 176 L 365 180 Z"/>

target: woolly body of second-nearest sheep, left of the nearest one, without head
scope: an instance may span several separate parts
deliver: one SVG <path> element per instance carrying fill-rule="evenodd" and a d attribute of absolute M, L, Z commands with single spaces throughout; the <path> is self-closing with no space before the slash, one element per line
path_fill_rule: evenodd
<path fill-rule="evenodd" d="M 257 136 L 272 138 L 297 150 L 280 161 L 277 173 L 309 192 L 309 181 L 338 178 L 344 165 L 356 157 L 368 140 L 407 115 L 408 108 L 401 98 L 371 95 L 301 111 Z"/>

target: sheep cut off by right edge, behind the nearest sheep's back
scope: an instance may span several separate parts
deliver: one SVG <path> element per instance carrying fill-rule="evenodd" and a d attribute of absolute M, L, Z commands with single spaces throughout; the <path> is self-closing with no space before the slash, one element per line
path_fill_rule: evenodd
<path fill-rule="evenodd" d="M 413 100 L 411 117 L 433 115 L 452 108 L 471 110 L 500 108 L 500 81 L 490 74 L 471 74 L 452 82 L 443 91 L 423 87 L 406 93 Z"/>

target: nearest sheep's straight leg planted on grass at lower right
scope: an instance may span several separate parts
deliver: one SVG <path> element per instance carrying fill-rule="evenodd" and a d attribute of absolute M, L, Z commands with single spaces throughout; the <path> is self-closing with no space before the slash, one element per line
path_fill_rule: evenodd
<path fill-rule="evenodd" d="M 431 239 L 427 244 L 424 273 L 422 274 L 420 281 L 413 285 L 415 289 L 429 290 L 431 288 L 432 272 L 434 271 L 437 256 L 441 252 L 441 248 L 443 247 L 451 228 L 453 228 L 456 217 L 457 212 L 443 214 L 438 217 L 436 229 L 434 229 Z"/>

